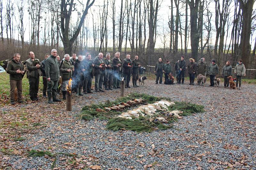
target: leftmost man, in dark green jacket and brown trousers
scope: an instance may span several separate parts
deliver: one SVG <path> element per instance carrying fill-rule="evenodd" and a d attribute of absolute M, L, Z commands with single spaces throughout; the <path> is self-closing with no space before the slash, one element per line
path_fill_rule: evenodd
<path fill-rule="evenodd" d="M 22 101 L 22 75 L 24 74 L 24 66 L 20 62 L 20 54 L 15 53 L 11 61 L 8 62 L 6 72 L 10 74 L 10 102 L 15 104 L 14 91 L 17 87 L 18 102 Z"/>

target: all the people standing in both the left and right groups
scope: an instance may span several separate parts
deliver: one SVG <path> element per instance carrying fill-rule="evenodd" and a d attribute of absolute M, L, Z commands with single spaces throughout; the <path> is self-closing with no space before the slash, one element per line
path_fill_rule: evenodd
<path fill-rule="evenodd" d="M 129 54 L 122 60 L 120 52 L 115 53 L 113 59 L 110 58 L 110 53 L 106 53 L 103 58 L 103 53 L 91 60 L 91 54 L 86 53 L 83 59 L 82 55 L 76 58 L 73 53 L 70 58 L 69 54 L 64 55 L 64 59 L 60 61 L 60 56 L 57 55 L 57 50 L 52 49 L 51 55 L 45 54 L 44 60 L 39 61 L 35 58 L 33 52 L 29 52 L 29 59 L 25 61 L 27 78 L 29 81 L 29 96 L 32 101 L 38 100 L 39 78 L 43 77 L 43 97 L 48 97 L 48 103 L 60 102 L 57 98 L 59 87 L 63 94 L 63 99 L 66 99 L 67 86 L 70 79 L 72 80 L 72 91 L 76 92 L 77 96 L 92 93 L 92 78 L 95 77 L 95 92 L 104 92 L 105 90 L 113 90 L 120 88 L 121 75 L 124 77 L 125 88 L 130 88 L 129 83 L 132 75 L 133 87 L 139 87 L 137 81 L 139 79 L 140 62 L 138 55 L 135 59 L 131 60 Z M 176 83 L 184 84 L 184 75 L 186 71 L 186 61 L 184 57 L 178 60 L 174 65 L 176 71 Z M 195 76 L 202 74 L 210 76 L 210 86 L 214 86 L 214 77 L 219 73 L 218 65 L 215 60 L 212 60 L 210 66 L 201 58 L 198 63 L 190 58 L 187 65 L 189 74 L 189 85 L 194 85 Z M 162 84 L 162 77 L 164 73 L 165 81 L 169 78 L 171 73 L 170 61 L 167 60 L 166 64 L 159 58 L 155 67 L 156 84 Z M 24 65 L 20 61 L 20 54 L 15 53 L 12 60 L 8 62 L 6 71 L 10 74 L 10 102 L 15 104 L 14 92 L 17 88 L 17 101 L 22 101 L 22 78 L 25 74 Z M 241 78 L 245 75 L 245 67 L 242 60 L 239 60 L 235 67 L 236 74 L 236 87 L 239 82 L 239 89 L 241 87 Z M 232 75 L 232 67 L 230 62 L 227 61 L 222 69 L 224 77 L 224 87 L 228 87 L 228 76 Z M 61 79 L 61 81 L 60 81 Z M 82 93 L 83 89 L 83 93 Z"/>

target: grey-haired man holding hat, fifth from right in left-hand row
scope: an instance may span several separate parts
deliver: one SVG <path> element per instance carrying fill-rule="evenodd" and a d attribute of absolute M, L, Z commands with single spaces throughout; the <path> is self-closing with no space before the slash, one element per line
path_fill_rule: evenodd
<path fill-rule="evenodd" d="M 103 60 L 103 53 L 99 53 L 94 59 L 94 76 L 95 76 L 95 91 L 104 92 L 102 85 L 104 82 L 104 70 L 107 67 L 105 61 Z"/>

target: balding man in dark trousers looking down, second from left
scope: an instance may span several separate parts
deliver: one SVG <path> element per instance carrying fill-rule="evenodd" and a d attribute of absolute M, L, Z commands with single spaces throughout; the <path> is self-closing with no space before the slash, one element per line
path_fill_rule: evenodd
<path fill-rule="evenodd" d="M 27 78 L 29 82 L 29 96 L 32 101 L 38 100 L 37 93 L 39 88 L 39 77 L 41 76 L 40 61 L 35 58 L 35 54 L 31 51 L 28 53 L 29 59 L 26 60 L 28 69 Z"/>

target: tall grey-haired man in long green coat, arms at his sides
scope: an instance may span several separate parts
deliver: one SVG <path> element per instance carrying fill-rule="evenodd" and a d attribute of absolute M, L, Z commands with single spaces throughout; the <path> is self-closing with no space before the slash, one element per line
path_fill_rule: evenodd
<path fill-rule="evenodd" d="M 56 59 L 57 50 L 52 49 L 51 56 L 45 60 L 45 74 L 47 78 L 48 103 L 61 102 L 57 99 L 57 88 L 60 80 L 59 62 Z"/>

